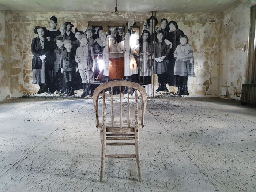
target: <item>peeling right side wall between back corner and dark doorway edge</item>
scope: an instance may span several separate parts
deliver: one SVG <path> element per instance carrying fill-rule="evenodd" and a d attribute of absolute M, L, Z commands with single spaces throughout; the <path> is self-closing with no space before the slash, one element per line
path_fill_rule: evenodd
<path fill-rule="evenodd" d="M 246 82 L 250 5 L 240 4 L 223 13 L 220 92 L 222 98 L 240 100 Z M 246 50 L 242 48 L 246 46 Z"/>

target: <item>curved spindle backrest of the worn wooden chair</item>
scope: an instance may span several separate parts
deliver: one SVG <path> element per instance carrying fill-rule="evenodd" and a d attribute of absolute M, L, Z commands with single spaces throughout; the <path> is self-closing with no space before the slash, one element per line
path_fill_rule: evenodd
<path fill-rule="evenodd" d="M 98 101 L 99 101 L 99 94 L 103 90 L 103 111 L 102 111 L 102 120 L 106 119 L 106 103 L 105 103 L 105 89 L 111 87 L 111 119 L 112 119 L 112 128 L 114 128 L 114 110 L 113 110 L 113 87 L 119 87 L 119 95 L 120 95 L 120 128 L 122 128 L 122 91 L 121 87 L 127 87 L 127 105 L 128 105 L 128 115 L 127 115 L 127 124 L 130 127 L 130 94 L 129 88 L 132 87 L 135 89 L 135 125 L 138 125 L 138 94 L 137 90 L 140 92 L 142 98 L 142 116 L 141 116 L 141 126 L 143 127 L 146 106 L 147 106 L 147 93 L 145 89 L 139 85 L 138 83 L 131 82 L 131 81 L 124 81 L 124 80 L 116 80 L 116 81 L 109 81 L 99 85 L 93 93 L 93 104 L 95 109 L 95 116 L 96 116 L 96 128 L 99 126 L 99 110 L 98 110 Z"/>

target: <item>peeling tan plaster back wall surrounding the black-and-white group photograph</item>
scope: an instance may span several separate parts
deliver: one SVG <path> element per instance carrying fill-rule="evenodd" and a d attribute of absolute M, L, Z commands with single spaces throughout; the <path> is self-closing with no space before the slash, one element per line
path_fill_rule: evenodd
<path fill-rule="evenodd" d="M 21 96 L 23 93 L 36 93 L 37 84 L 32 84 L 32 53 L 31 41 L 37 37 L 34 34 L 36 25 L 49 28 L 50 16 L 56 16 L 58 23 L 70 21 L 79 30 L 85 31 L 87 21 L 144 21 L 151 13 L 122 12 L 119 17 L 110 13 L 82 13 L 82 12 L 11 12 L 1 13 L 5 19 L 5 33 L 8 48 L 8 66 L 1 66 L 3 70 L 9 70 L 9 89 L 12 96 Z M 3 20 L 1 18 L 1 20 Z M 175 20 L 179 28 L 189 38 L 189 44 L 194 48 L 195 77 L 188 78 L 188 97 L 219 97 L 219 70 L 221 57 L 221 25 L 222 14 L 181 14 L 181 13 L 157 13 L 158 26 L 160 20 Z M 58 28 L 58 26 L 57 26 Z M 0 42 L 2 44 L 2 35 Z M 0 57 L 1 58 L 1 57 Z M 1 60 L 0 60 L 1 63 Z M 2 80 L 1 80 L 2 81 Z M 2 83 L 1 83 L 2 84 Z M 157 86 L 158 82 L 155 81 Z M 7 86 L 7 84 L 6 84 Z M 8 87 L 8 86 L 7 86 Z M 169 90 L 176 91 L 174 87 Z M 1 99 L 5 96 L 1 92 Z"/>

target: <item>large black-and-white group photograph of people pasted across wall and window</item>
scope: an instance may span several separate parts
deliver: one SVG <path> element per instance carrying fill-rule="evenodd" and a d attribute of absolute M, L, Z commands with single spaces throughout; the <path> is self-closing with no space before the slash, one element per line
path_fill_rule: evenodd
<path fill-rule="evenodd" d="M 31 44 L 38 94 L 72 96 L 74 90 L 83 89 L 80 96 L 91 97 L 99 82 L 124 79 L 142 84 L 150 95 L 153 72 L 159 84 L 156 93 L 169 92 L 168 84 L 178 88 L 176 95 L 189 94 L 188 77 L 195 76 L 193 48 L 177 22 L 163 18 L 156 27 L 158 19 L 151 16 L 142 30 L 127 22 L 126 33 L 124 26 L 108 27 L 107 32 L 102 26 L 88 26 L 86 31 L 75 28 L 74 33 L 71 22 L 58 23 L 55 16 L 48 23 L 48 29 L 35 26 L 38 37 Z"/>

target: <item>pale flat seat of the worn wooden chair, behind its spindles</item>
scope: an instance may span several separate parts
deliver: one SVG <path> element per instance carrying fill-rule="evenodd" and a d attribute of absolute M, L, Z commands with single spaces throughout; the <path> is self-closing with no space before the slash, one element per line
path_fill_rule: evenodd
<path fill-rule="evenodd" d="M 116 117 L 114 118 L 114 128 L 112 128 L 112 121 L 111 117 L 106 118 L 106 124 L 107 124 L 107 132 L 112 132 L 112 133 L 128 133 L 128 132 L 134 132 L 134 127 L 135 127 L 135 118 L 130 118 L 130 127 L 128 127 L 127 123 L 127 118 L 123 118 L 123 128 L 120 128 L 120 123 L 119 123 L 120 118 Z M 141 120 L 139 118 L 139 128 L 142 127 L 141 125 Z M 99 118 L 99 127 L 101 128 L 102 125 L 102 118 Z"/>

